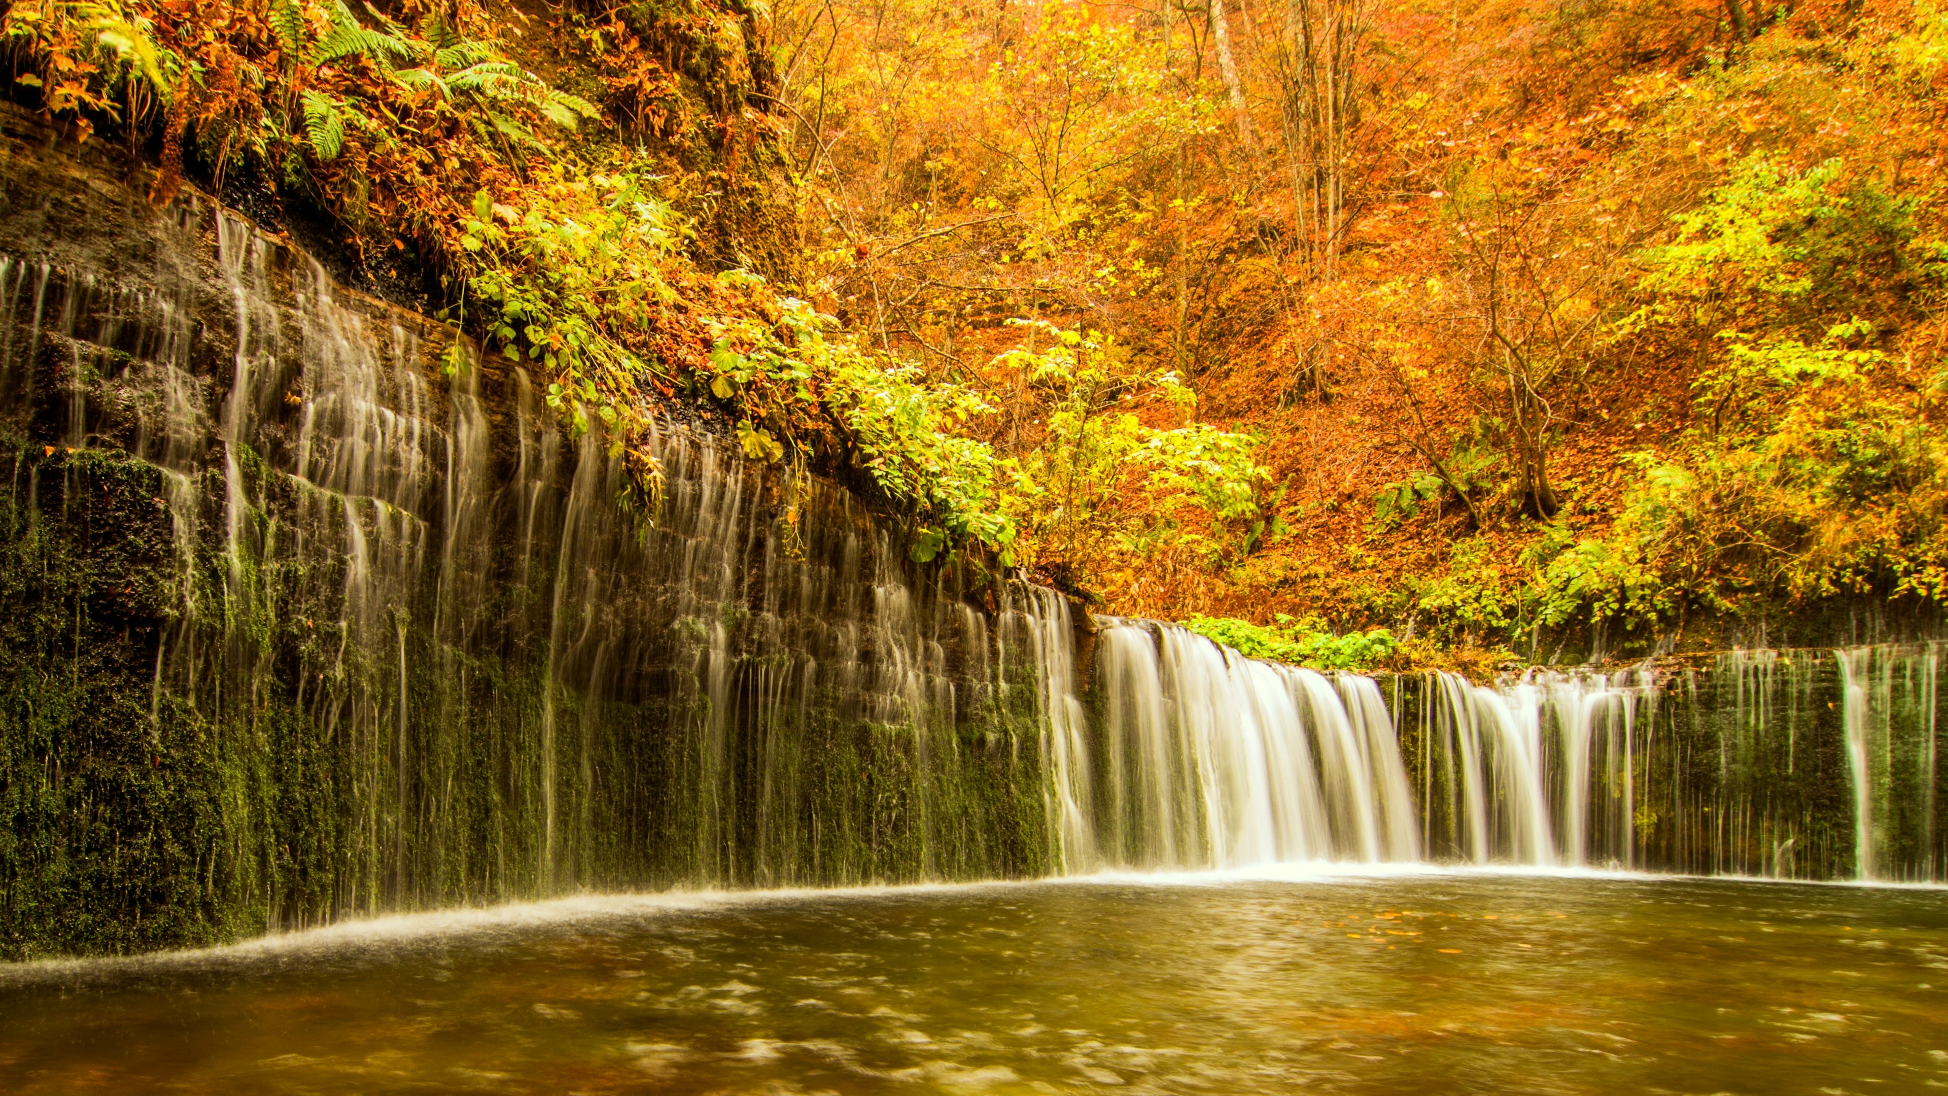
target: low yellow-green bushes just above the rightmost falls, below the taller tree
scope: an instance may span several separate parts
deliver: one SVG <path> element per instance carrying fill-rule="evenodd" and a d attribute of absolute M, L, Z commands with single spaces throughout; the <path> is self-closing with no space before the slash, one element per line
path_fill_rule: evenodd
<path fill-rule="evenodd" d="M 1800 376 L 1835 365 L 1775 349 Z M 1533 620 L 1648 632 L 1687 605 L 1738 612 L 1747 597 L 1940 603 L 1948 447 L 1911 406 L 1876 398 L 1856 363 L 1837 365 L 1792 382 L 1761 433 L 1701 429 L 1681 456 L 1638 454 L 1609 536 L 1537 552 Z"/>

